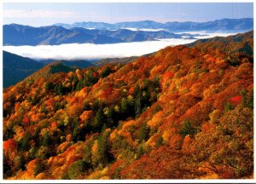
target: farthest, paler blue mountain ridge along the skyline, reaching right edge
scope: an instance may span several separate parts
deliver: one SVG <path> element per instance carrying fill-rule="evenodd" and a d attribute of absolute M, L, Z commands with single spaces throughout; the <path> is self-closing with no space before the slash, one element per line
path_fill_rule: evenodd
<path fill-rule="evenodd" d="M 57 23 L 55 26 L 63 26 L 67 29 L 73 27 L 94 28 L 94 29 L 122 29 L 122 28 L 137 28 L 137 29 L 164 29 L 169 32 L 195 32 L 195 31 L 249 31 L 253 29 L 253 18 L 243 19 L 222 19 L 207 22 L 166 22 L 160 23 L 152 20 L 119 22 L 108 24 L 104 22 L 76 22 L 73 24 Z"/>

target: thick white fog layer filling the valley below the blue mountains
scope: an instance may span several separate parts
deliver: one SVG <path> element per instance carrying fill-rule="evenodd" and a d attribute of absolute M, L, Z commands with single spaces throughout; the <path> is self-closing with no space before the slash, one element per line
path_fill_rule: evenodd
<path fill-rule="evenodd" d="M 200 39 L 216 36 L 229 36 L 233 34 L 236 33 L 203 33 L 202 35 L 204 36 L 195 38 Z M 3 46 L 3 50 L 16 55 L 29 57 L 34 60 L 96 60 L 102 58 L 121 58 L 146 55 L 160 49 L 164 49 L 167 46 L 192 43 L 195 42 L 196 39 L 171 38 L 160 39 L 159 41 L 111 44 L 69 43 L 61 45 Z"/>

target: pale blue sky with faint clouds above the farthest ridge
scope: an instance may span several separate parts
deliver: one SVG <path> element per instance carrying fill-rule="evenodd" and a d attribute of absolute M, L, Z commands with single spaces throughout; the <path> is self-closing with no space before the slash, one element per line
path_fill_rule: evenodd
<path fill-rule="evenodd" d="M 210 21 L 253 17 L 253 3 L 3 3 L 3 24 Z"/>

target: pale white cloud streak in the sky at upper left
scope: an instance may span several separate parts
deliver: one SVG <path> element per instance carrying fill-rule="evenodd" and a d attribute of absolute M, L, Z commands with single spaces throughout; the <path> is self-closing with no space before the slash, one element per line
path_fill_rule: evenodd
<path fill-rule="evenodd" d="M 73 11 L 58 11 L 45 9 L 31 9 L 30 11 L 23 9 L 3 9 L 4 18 L 70 18 L 79 17 Z"/>

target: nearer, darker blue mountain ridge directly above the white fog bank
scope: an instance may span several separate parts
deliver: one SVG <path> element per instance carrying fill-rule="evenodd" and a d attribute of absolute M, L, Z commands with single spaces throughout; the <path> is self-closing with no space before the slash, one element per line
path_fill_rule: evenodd
<path fill-rule="evenodd" d="M 121 29 L 88 30 L 84 28 L 66 29 L 62 26 L 23 26 L 17 24 L 3 26 L 3 45 L 59 45 L 63 43 L 128 43 L 156 40 L 160 38 L 182 38 L 188 34 L 171 32 L 133 32 Z M 189 35 L 192 37 L 192 35 Z"/>

